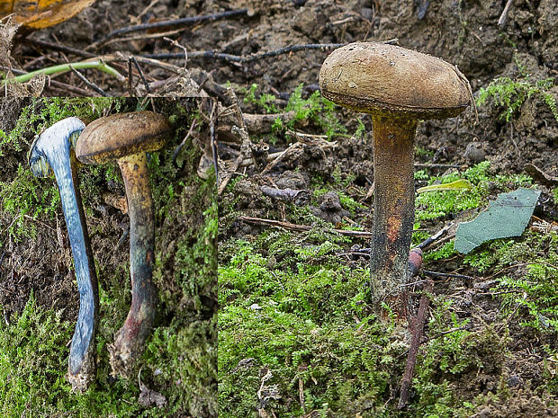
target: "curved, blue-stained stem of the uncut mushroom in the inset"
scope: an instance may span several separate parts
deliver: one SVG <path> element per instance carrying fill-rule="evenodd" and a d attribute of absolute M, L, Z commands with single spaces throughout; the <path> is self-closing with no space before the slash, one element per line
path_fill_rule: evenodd
<path fill-rule="evenodd" d="M 151 278 L 155 227 L 146 153 L 118 160 L 126 187 L 130 214 L 131 307 L 124 325 L 115 335 L 112 369 L 128 374 L 151 331 L 157 305 L 157 289 Z"/>

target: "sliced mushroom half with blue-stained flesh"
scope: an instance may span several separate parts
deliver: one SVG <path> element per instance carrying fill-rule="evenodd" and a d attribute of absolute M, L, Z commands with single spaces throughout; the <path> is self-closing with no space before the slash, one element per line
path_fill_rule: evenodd
<path fill-rule="evenodd" d="M 60 120 L 44 130 L 31 144 L 29 165 L 37 177 L 56 176 L 67 235 L 74 255 L 79 313 L 68 360 L 68 380 L 76 391 L 83 391 L 94 379 L 94 335 L 99 317 L 99 290 L 89 244 L 85 214 L 76 175 L 76 138 L 85 128 L 77 118 Z"/>

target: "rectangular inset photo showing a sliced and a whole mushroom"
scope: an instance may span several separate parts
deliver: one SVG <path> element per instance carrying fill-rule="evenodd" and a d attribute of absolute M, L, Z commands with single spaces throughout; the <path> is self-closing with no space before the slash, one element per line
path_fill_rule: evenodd
<path fill-rule="evenodd" d="M 0 102 L 2 416 L 217 416 L 216 110 Z"/>

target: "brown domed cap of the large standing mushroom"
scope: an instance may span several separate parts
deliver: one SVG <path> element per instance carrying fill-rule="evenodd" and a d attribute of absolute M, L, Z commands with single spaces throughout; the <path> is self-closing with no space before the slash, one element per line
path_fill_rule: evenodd
<path fill-rule="evenodd" d="M 403 113 L 444 119 L 469 105 L 464 76 L 446 61 L 377 42 L 356 42 L 334 50 L 320 70 L 324 97 L 365 113 Z"/>

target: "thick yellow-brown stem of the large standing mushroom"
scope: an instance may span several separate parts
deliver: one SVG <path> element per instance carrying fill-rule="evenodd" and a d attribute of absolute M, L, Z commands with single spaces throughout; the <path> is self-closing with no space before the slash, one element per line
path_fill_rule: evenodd
<path fill-rule="evenodd" d="M 374 298 L 380 302 L 408 279 L 415 215 L 416 129 L 415 118 L 373 115 L 375 191 L 370 270 Z"/>

